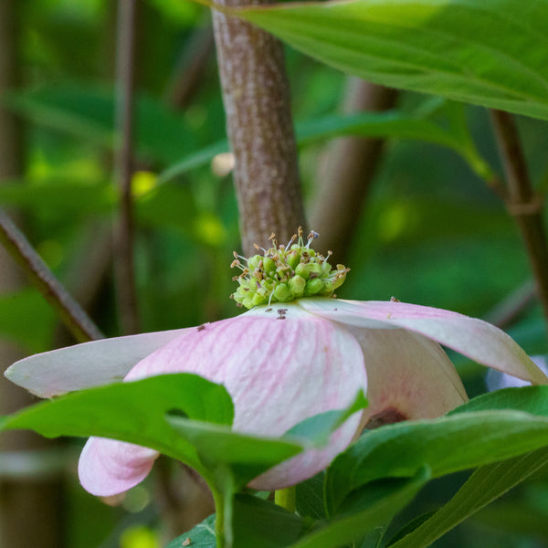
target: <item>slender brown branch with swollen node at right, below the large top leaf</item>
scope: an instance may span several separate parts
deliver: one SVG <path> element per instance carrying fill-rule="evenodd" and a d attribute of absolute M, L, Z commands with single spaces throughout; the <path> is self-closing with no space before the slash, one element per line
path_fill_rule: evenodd
<path fill-rule="evenodd" d="M 548 321 L 548 244 L 543 203 L 535 195 L 515 122 L 508 112 L 491 111 L 508 184 L 506 206 L 515 218 L 529 255 L 544 316 Z"/>

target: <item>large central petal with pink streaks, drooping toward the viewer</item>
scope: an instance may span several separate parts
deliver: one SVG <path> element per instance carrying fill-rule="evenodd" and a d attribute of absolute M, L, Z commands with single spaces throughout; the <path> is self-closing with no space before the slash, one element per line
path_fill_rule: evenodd
<path fill-rule="evenodd" d="M 174 372 L 225 385 L 235 405 L 234 429 L 269 437 L 348 406 L 366 389 L 364 358 L 353 335 L 295 304 L 258 307 L 185 333 L 142 360 L 127 379 Z M 280 464 L 254 480 L 254 487 L 279 489 L 310 478 L 346 448 L 359 422 L 358 413 L 335 433 L 332 446 Z"/>

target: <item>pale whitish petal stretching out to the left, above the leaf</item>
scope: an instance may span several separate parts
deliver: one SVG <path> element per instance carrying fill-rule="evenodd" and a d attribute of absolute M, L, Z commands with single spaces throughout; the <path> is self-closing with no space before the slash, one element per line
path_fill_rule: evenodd
<path fill-rule="evenodd" d="M 39 397 L 108 385 L 121 381 L 142 358 L 186 331 L 176 329 L 83 342 L 19 360 L 8 367 L 5 376 Z"/>

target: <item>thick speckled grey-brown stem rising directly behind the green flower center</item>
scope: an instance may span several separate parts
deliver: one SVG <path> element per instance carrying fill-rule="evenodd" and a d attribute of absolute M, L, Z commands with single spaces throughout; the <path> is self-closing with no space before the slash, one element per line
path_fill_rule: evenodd
<path fill-rule="evenodd" d="M 213 21 L 227 134 L 236 157 L 242 246 L 252 253 L 253 243 L 267 245 L 271 232 L 287 241 L 305 225 L 289 84 L 276 38 L 236 17 L 214 12 Z"/>

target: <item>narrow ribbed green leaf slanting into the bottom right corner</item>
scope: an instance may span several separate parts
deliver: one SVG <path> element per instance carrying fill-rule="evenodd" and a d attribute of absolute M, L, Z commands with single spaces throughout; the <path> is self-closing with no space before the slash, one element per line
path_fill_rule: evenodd
<path fill-rule="evenodd" d="M 476 470 L 448 503 L 392 548 L 426 548 L 548 462 L 548 448 Z"/>

